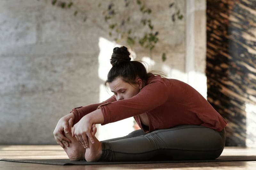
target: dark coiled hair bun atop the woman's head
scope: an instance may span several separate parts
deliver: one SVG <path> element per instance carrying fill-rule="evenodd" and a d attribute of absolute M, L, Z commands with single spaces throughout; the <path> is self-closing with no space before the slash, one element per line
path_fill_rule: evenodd
<path fill-rule="evenodd" d="M 112 66 L 131 61 L 130 52 L 126 47 L 115 47 L 110 59 Z"/>

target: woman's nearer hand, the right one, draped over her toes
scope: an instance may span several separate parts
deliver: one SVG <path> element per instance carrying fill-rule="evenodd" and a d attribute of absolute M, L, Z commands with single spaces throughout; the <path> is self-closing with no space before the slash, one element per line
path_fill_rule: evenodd
<path fill-rule="evenodd" d="M 95 124 L 93 126 L 95 127 Z M 73 126 L 72 137 L 75 136 L 80 144 L 84 146 L 84 148 L 89 148 L 88 138 L 91 140 L 92 144 L 94 143 L 92 137 L 93 126 L 86 116 L 80 119 L 80 121 Z"/>

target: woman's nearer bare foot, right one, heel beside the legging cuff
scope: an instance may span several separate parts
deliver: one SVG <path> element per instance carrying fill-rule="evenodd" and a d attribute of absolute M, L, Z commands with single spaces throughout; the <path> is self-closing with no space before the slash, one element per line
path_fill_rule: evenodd
<path fill-rule="evenodd" d="M 98 161 L 102 154 L 101 142 L 95 137 L 96 128 L 94 127 L 92 130 L 93 130 L 92 136 L 93 136 L 94 144 L 92 144 L 91 140 L 88 140 L 90 148 L 86 148 L 86 151 L 84 154 L 84 158 L 87 162 Z"/>

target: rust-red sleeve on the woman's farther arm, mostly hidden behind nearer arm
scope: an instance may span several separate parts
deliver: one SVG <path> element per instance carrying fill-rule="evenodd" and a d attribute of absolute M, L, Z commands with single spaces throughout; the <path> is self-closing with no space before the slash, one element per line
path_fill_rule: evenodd
<path fill-rule="evenodd" d="M 101 103 L 96 103 L 96 104 L 91 104 L 88 106 L 84 106 L 84 107 L 76 107 L 73 108 L 69 113 L 73 113 L 74 115 L 74 124 L 76 124 L 82 117 L 84 117 L 85 115 L 93 112 L 94 110 L 96 110 L 99 106 L 104 105 L 106 103 L 110 103 L 116 101 L 116 97 L 115 95 L 111 96 L 108 100 L 105 100 Z M 73 126 L 72 126 L 73 127 Z"/>

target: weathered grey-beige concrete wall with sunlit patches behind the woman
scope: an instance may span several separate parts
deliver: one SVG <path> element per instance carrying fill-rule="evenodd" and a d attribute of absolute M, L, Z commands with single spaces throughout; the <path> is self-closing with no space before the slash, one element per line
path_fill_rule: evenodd
<path fill-rule="evenodd" d="M 136 1 L 130 1 L 128 7 L 118 0 L 76 1 L 70 9 L 51 2 L 0 0 L 0 144 L 56 144 L 52 132 L 60 117 L 74 107 L 98 103 L 112 95 L 102 84 L 111 68 L 112 49 L 125 44 L 116 44 L 108 35 L 109 24 L 102 11 L 110 2 L 118 6 L 120 16 L 130 15 L 129 26 L 136 29 L 135 33 L 145 31 L 138 26 Z M 193 85 L 206 97 L 205 0 L 142 3 L 152 9 L 159 42 L 151 58 L 139 45 L 131 49 L 133 58 Z M 171 3 L 174 5 L 169 8 Z M 193 15 L 187 20 L 190 7 Z M 177 9 L 183 19 L 173 22 L 172 13 Z M 76 16 L 74 11 L 78 11 Z M 202 38 L 191 39 L 192 34 Z M 193 45 L 186 48 L 191 42 Z M 163 52 L 165 62 L 161 59 Z M 202 81 L 196 84 L 189 77 Z M 133 118 L 97 126 L 99 140 L 120 137 L 133 130 Z"/>

